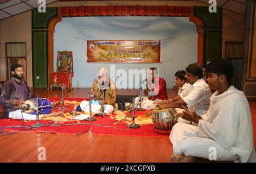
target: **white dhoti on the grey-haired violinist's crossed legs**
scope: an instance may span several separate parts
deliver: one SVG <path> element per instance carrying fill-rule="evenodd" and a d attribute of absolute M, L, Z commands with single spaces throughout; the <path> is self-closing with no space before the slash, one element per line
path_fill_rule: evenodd
<path fill-rule="evenodd" d="M 89 113 L 89 101 L 82 101 L 80 103 L 80 107 L 83 111 L 86 111 Z M 112 105 L 104 105 L 104 113 L 109 114 L 112 113 L 114 110 L 114 107 Z M 101 113 L 101 105 L 92 104 L 92 113 Z"/>

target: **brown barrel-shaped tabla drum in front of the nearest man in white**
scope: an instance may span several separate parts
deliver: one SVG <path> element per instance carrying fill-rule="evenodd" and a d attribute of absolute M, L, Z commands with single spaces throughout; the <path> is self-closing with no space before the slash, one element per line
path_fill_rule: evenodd
<path fill-rule="evenodd" d="M 172 126 L 177 123 L 176 110 L 174 108 L 169 109 L 154 109 L 152 113 L 152 121 L 155 127 L 160 130 L 170 130 Z"/>

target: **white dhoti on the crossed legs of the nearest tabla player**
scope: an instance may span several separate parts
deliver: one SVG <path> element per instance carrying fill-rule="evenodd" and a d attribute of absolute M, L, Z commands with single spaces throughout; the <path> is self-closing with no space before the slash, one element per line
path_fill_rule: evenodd
<path fill-rule="evenodd" d="M 230 152 L 213 139 L 200 137 L 198 127 L 185 123 L 176 123 L 172 127 L 170 140 L 174 155 L 193 156 L 208 160 L 234 161 L 238 155 Z"/>

